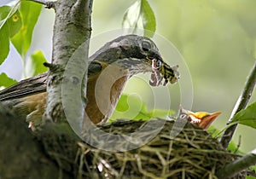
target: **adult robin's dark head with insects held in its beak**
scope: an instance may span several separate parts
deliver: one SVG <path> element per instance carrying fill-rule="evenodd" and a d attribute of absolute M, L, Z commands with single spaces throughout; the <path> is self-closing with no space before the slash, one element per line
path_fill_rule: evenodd
<path fill-rule="evenodd" d="M 159 85 L 164 78 L 173 84 L 179 78 L 177 67 L 167 65 L 156 44 L 150 39 L 137 35 L 126 35 L 106 43 L 90 57 L 128 69 L 131 75 L 139 72 L 153 72 L 152 85 Z"/>

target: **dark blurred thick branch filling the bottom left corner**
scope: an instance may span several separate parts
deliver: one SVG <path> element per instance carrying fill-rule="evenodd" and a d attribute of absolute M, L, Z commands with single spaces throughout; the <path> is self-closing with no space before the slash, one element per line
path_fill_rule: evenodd
<path fill-rule="evenodd" d="M 44 153 L 27 124 L 0 102 L 0 178 L 58 178 L 59 168 Z M 63 178 L 71 178 L 62 173 Z"/>

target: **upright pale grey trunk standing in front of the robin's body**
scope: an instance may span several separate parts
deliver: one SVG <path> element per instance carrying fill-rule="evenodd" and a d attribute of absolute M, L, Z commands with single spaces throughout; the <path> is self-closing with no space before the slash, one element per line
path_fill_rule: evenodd
<path fill-rule="evenodd" d="M 91 0 L 59 0 L 55 3 L 53 59 L 44 118 L 53 121 L 65 118 L 65 106 L 71 111 L 65 111 L 66 117 L 76 118 L 73 121 L 76 130 L 81 126 L 85 106 L 81 96 L 86 93 L 91 4 Z M 65 101 L 68 102 L 65 104 Z"/>

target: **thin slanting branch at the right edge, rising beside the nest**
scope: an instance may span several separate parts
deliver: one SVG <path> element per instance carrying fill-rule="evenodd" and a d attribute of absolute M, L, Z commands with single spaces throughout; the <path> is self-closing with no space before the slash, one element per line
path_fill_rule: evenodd
<path fill-rule="evenodd" d="M 241 95 L 239 96 L 238 100 L 236 101 L 236 106 L 234 107 L 234 109 L 230 115 L 228 124 L 230 124 L 232 122 L 236 113 L 241 111 L 241 109 L 244 109 L 245 107 L 247 107 L 247 103 L 253 93 L 255 84 L 256 84 L 256 61 L 254 63 L 252 71 L 249 73 L 245 87 L 241 91 Z M 234 124 L 234 125 L 231 125 L 229 128 L 227 128 L 226 130 L 224 130 L 224 133 L 220 139 L 220 142 L 224 148 L 227 148 L 229 146 L 232 136 L 235 133 L 236 126 L 237 126 L 237 124 Z"/>

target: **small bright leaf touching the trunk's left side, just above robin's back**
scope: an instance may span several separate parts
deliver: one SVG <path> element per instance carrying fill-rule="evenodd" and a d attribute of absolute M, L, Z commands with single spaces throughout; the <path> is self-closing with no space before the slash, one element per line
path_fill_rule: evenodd
<path fill-rule="evenodd" d="M 41 50 L 34 52 L 26 63 L 26 76 L 33 77 L 48 70 L 43 64 L 47 62 Z"/>

